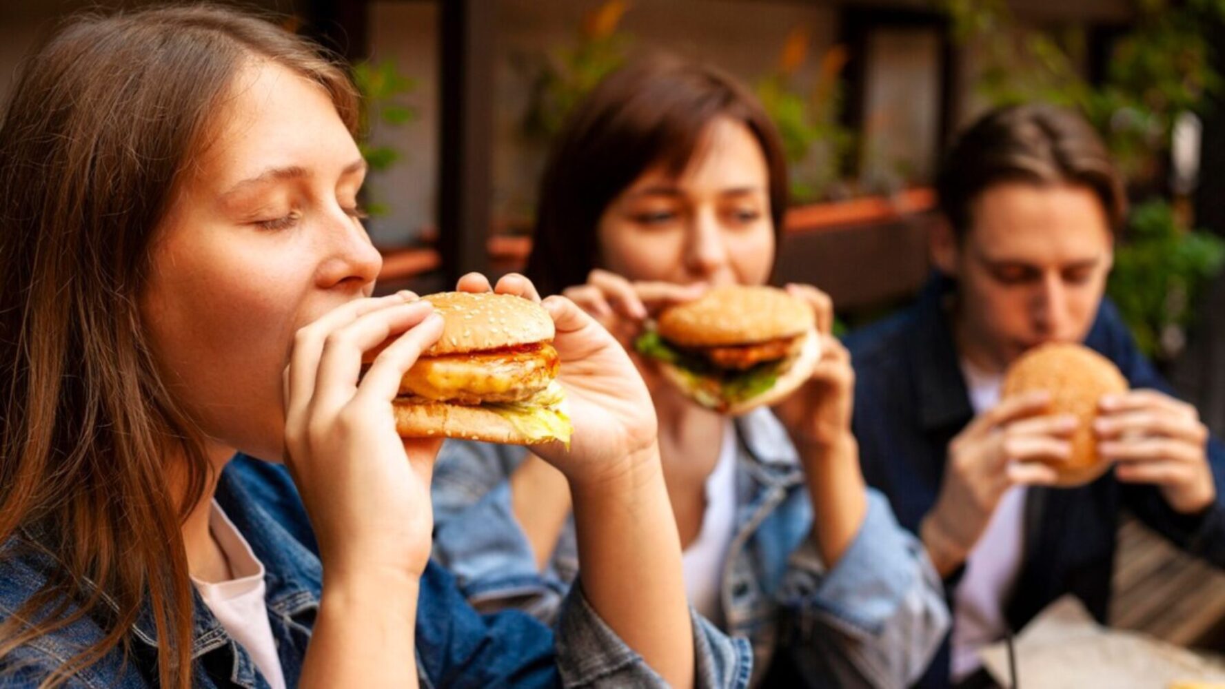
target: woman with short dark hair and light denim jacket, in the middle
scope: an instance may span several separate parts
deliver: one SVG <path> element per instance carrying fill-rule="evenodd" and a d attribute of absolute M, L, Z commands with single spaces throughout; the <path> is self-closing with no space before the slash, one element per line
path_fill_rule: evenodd
<path fill-rule="evenodd" d="M 761 104 L 722 71 L 648 56 L 601 82 L 554 143 L 528 277 L 630 348 L 648 318 L 712 286 L 769 280 L 786 163 Z M 813 310 L 822 359 L 773 409 L 707 409 L 636 356 L 690 602 L 747 638 L 763 687 L 904 687 L 948 623 L 940 583 L 884 498 L 865 487 L 850 432 L 854 371 Z M 434 482 L 435 552 L 470 600 L 545 619 L 575 579 L 565 481 L 517 448 L 448 443 Z"/>

